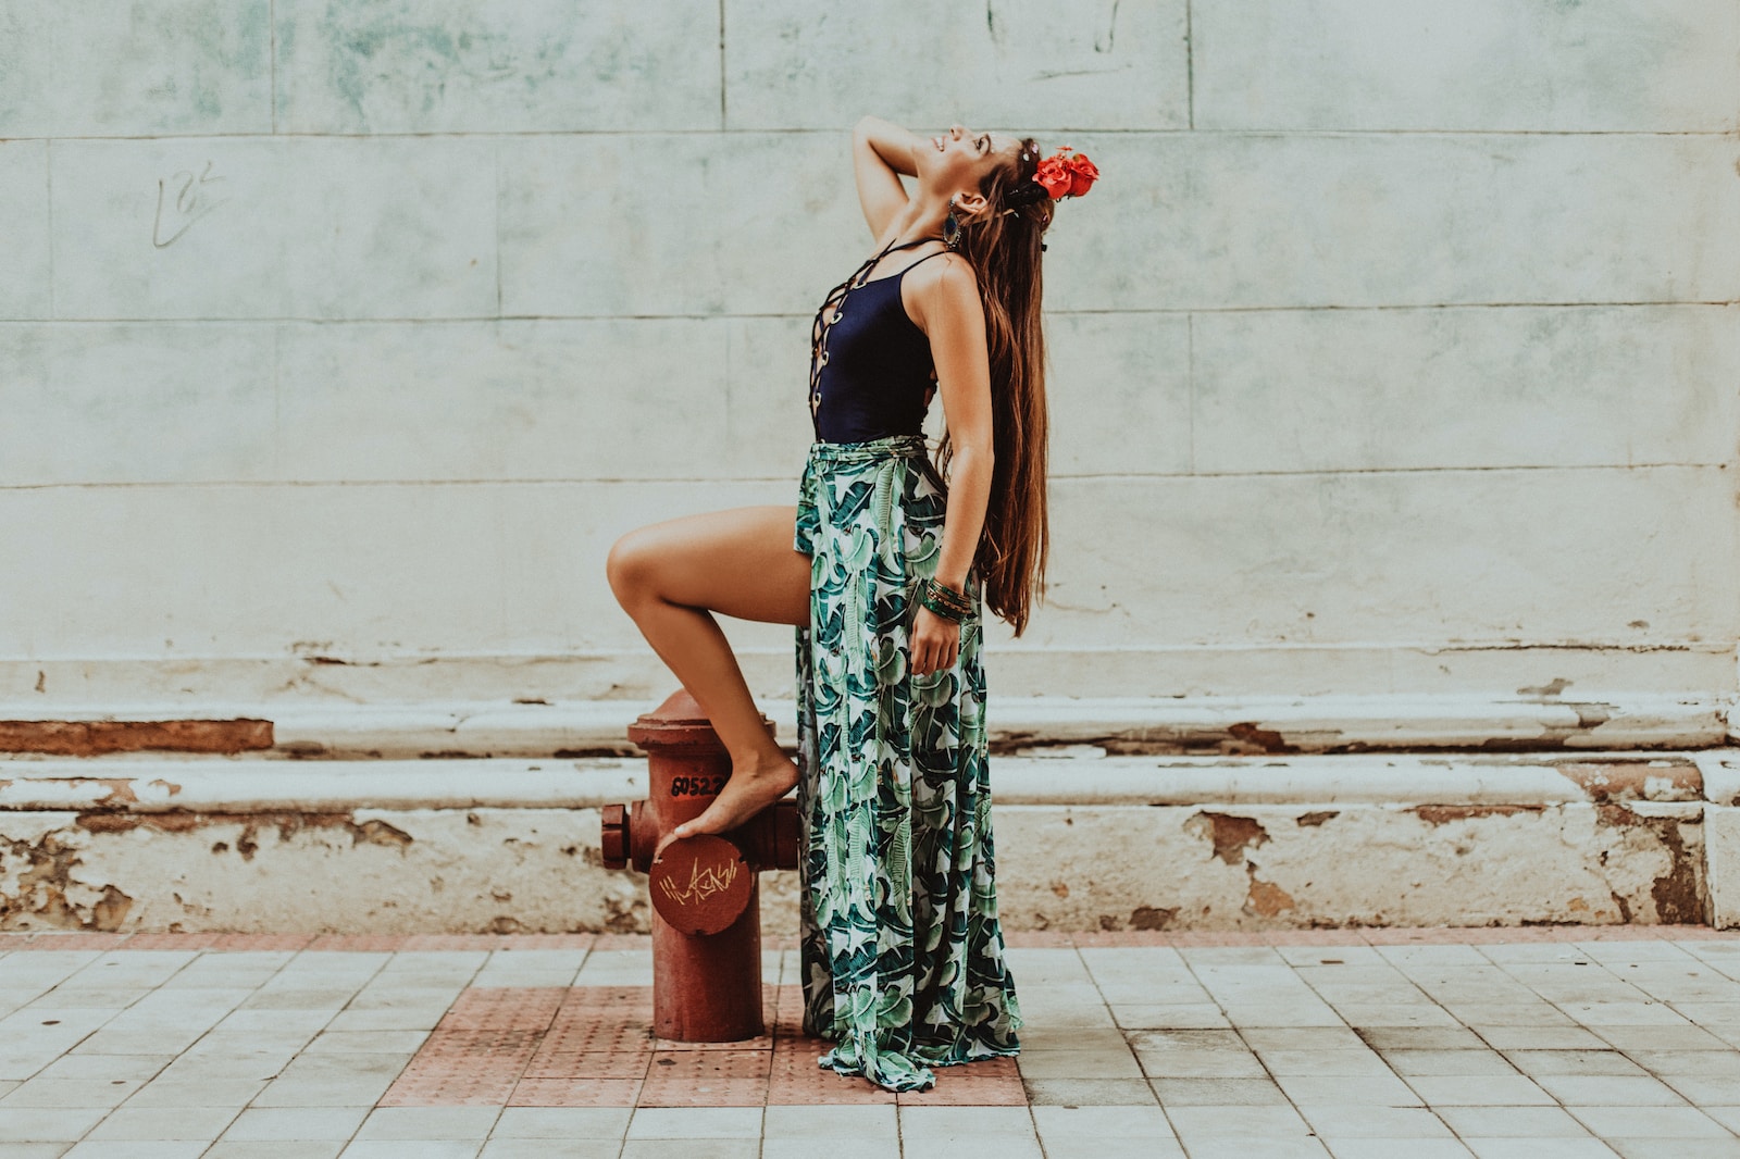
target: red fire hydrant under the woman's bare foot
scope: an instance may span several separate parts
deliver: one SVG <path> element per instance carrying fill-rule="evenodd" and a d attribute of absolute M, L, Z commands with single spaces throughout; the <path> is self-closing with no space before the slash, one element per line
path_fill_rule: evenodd
<path fill-rule="evenodd" d="M 773 720 L 762 717 L 767 731 Z M 780 801 L 724 835 L 672 842 L 731 776 L 731 757 L 687 689 L 637 719 L 647 799 L 604 807 L 604 865 L 647 874 L 652 894 L 652 1025 L 661 1039 L 736 1042 L 764 1032 L 757 874 L 797 868 L 797 802 Z"/>

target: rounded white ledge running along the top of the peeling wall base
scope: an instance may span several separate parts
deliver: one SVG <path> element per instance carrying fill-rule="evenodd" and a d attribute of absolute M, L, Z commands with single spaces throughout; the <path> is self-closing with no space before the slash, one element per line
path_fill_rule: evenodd
<path fill-rule="evenodd" d="M 1420 804 L 1449 809 L 1698 802 L 1705 799 L 1703 767 L 1730 769 L 1728 760 L 1740 769 L 1740 750 L 1696 757 L 1608 752 L 1554 759 L 1422 754 L 1112 757 L 1077 747 L 1056 748 L 1051 755 L 994 755 L 990 776 L 995 801 L 1011 806 Z M 644 795 L 646 760 L 628 757 L 0 760 L 0 811 L 12 813 L 595 809 Z"/>

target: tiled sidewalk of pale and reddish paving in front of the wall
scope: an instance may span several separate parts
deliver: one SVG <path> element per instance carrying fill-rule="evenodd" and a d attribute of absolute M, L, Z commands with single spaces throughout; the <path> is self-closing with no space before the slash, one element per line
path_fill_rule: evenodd
<path fill-rule="evenodd" d="M 647 1037 L 640 938 L 0 935 L 0 1159 L 1740 1157 L 1740 936 L 1027 936 L 1018 1070 Z"/>

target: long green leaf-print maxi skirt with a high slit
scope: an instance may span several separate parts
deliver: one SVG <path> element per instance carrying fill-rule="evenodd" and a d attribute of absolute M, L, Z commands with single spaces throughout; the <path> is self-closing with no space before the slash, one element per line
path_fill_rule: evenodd
<path fill-rule="evenodd" d="M 929 1067 L 1014 1055 L 990 828 L 980 581 L 952 668 L 912 675 L 917 585 L 945 492 L 924 439 L 816 442 L 795 548 L 804 1028 L 821 1065 L 896 1091 Z"/>

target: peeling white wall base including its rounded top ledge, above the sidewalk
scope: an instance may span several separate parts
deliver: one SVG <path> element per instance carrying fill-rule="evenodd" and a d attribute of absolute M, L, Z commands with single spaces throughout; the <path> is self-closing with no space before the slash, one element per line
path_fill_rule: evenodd
<path fill-rule="evenodd" d="M 1011 929 L 1740 922 L 1740 750 L 997 755 Z M 640 931 L 632 759 L 0 760 L 0 928 Z M 762 877 L 797 926 L 795 877 Z"/>

